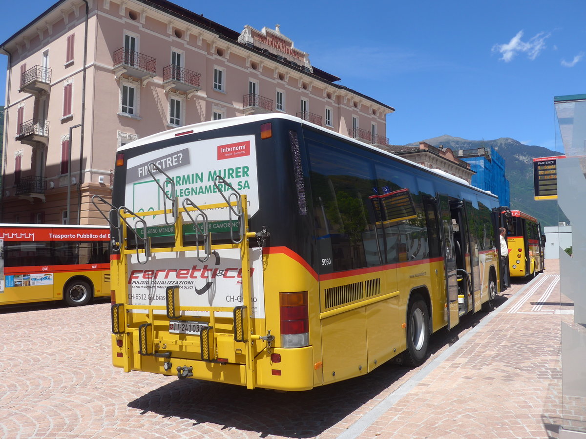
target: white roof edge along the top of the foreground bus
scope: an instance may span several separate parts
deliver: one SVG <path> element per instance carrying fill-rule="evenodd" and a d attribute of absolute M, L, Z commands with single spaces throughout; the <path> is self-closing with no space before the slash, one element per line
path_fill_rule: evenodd
<path fill-rule="evenodd" d="M 329 129 L 323 128 L 322 126 L 312 124 L 311 122 L 304 121 L 301 118 L 291 116 L 289 114 L 284 114 L 284 113 L 237 116 L 234 118 L 219 119 L 217 121 L 206 121 L 206 122 L 199 122 L 198 124 L 179 126 L 178 128 L 169 129 L 167 131 L 162 131 L 162 132 L 159 132 L 156 134 L 152 134 L 152 135 L 144 137 L 142 139 L 134 140 L 130 143 L 127 143 L 124 146 L 121 146 L 121 148 L 119 148 L 117 150 L 117 152 L 124 152 L 125 150 L 139 148 L 142 145 L 149 145 L 150 143 L 160 142 L 161 140 L 171 139 L 173 137 L 178 137 L 181 135 L 188 135 L 188 134 L 192 134 L 192 133 L 205 132 L 205 131 L 210 131 L 212 129 L 230 128 L 230 126 L 249 124 L 250 122 L 261 122 L 261 121 L 265 121 L 267 119 L 287 119 L 289 121 L 298 122 L 299 124 L 309 125 L 314 129 L 328 133 L 328 135 L 337 136 L 337 137 L 344 139 L 346 141 L 350 139 L 353 142 L 359 143 L 364 148 L 374 150 L 377 153 L 382 153 L 384 155 L 391 156 L 395 160 L 397 160 L 398 162 L 403 162 L 403 163 L 408 164 L 409 166 L 418 167 L 420 169 L 423 169 L 424 172 L 436 174 L 437 176 L 444 177 L 447 180 L 455 181 L 458 184 L 462 184 L 464 186 L 471 187 L 479 192 L 485 193 L 485 194 L 492 196 L 492 197 L 496 197 L 495 194 L 493 194 L 489 191 L 485 191 L 479 187 L 472 186 L 470 183 L 468 183 L 468 181 L 461 179 L 459 177 L 453 176 L 452 174 L 448 174 L 447 172 L 444 172 L 444 171 L 441 171 L 438 169 L 429 169 L 421 164 L 411 162 L 411 160 L 407 160 L 404 157 L 400 157 L 400 156 L 394 155 L 393 153 L 385 151 L 383 149 L 376 148 L 376 146 L 372 146 L 372 145 L 369 145 L 368 143 L 360 142 L 360 140 L 349 138 L 348 136 L 345 136 L 343 134 L 337 133 L 335 131 L 331 131 Z"/>

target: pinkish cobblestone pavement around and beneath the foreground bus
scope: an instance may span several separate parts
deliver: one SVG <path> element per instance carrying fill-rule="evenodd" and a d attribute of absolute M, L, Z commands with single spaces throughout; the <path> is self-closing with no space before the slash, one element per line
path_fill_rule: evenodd
<path fill-rule="evenodd" d="M 308 392 L 247 390 L 114 368 L 109 302 L 2 309 L 0 436 L 555 438 L 561 413 L 559 283 L 540 299 L 559 271 L 550 269 L 557 261 L 548 262 L 532 285 L 543 282 L 526 299 L 526 293 L 511 298 L 530 286 L 513 284 L 498 298 L 502 309 L 494 316 L 477 313 L 449 333 L 434 334 L 426 365 L 493 317 L 388 409 L 384 403 L 426 365 L 387 363 Z"/>

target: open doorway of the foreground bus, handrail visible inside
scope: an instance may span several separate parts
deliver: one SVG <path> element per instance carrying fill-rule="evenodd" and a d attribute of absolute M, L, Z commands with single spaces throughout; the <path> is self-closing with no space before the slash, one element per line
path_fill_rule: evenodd
<path fill-rule="evenodd" d="M 471 249 L 464 201 L 451 199 L 449 208 L 454 231 L 456 271 L 458 272 L 458 313 L 464 315 L 474 308 L 472 267 L 475 266 L 475 271 L 478 271 L 478 262 L 476 265 L 472 262 L 474 255 Z"/>

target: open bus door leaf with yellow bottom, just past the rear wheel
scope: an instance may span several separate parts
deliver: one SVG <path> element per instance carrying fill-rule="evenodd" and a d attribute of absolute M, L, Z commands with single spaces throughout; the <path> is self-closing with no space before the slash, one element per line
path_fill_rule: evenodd
<path fill-rule="evenodd" d="M 446 305 L 444 317 L 448 320 L 448 329 L 453 328 L 459 322 L 458 313 L 458 273 L 456 265 L 456 251 L 454 242 L 454 228 L 452 227 L 452 214 L 449 208 L 451 198 L 445 195 L 437 195 L 438 209 L 440 211 L 442 242 L 442 257 L 444 258 L 444 277 L 446 291 Z"/>

